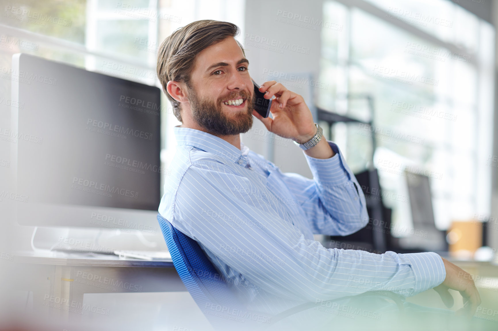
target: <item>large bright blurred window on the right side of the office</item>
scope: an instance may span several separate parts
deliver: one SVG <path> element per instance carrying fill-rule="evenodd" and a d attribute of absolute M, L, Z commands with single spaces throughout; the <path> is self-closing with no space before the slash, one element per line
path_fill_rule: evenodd
<path fill-rule="evenodd" d="M 324 21 L 342 29 L 322 31 L 320 81 L 332 88 L 320 91 L 318 105 L 373 120 L 373 127 L 333 130 L 353 171 L 370 165 L 374 135 L 387 196 L 408 195 L 408 166 L 430 177 L 439 229 L 489 215 L 494 27 L 447 0 L 326 1 L 323 8 Z M 373 114 L 362 95 L 373 97 Z M 410 226 L 409 202 L 383 200 L 393 225 Z"/>

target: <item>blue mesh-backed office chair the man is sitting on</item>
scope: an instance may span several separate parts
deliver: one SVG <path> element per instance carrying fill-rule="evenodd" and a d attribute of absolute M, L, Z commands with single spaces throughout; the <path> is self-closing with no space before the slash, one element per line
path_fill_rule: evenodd
<path fill-rule="evenodd" d="M 247 309 L 195 240 L 173 227 L 160 214 L 157 215 L 157 220 L 178 275 L 215 329 L 263 330 L 290 315 L 318 306 L 314 302 L 306 302 L 277 315 Z M 386 296 L 396 303 L 400 312 L 403 312 L 403 297 L 390 291 L 366 292 L 329 300 L 326 303 L 367 295 Z"/>

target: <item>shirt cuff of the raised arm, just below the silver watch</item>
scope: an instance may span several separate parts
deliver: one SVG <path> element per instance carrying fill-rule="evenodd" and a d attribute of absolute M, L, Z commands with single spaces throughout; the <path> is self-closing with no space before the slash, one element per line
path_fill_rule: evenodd
<path fill-rule="evenodd" d="M 336 155 L 328 159 L 317 159 L 310 157 L 303 151 L 306 162 L 310 167 L 313 178 L 323 186 L 342 185 L 351 179 L 347 168 L 344 166 L 346 165 L 344 156 L 335 143 L 330 140 L 327 140 L 327 143 L 329 143 Z"/>

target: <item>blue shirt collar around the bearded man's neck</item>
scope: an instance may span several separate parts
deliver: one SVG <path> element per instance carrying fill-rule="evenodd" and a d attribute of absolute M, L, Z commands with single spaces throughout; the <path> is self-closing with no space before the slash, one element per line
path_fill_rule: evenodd
<path fill-rule="evenodd" d="M 212 135 L 210 133 L 192 129 L 175 126 L 173 132 L 176 137 L 178 146 L 188 145 L 198 148 L 200 150 L 220 155 L 232 162 L 247 167 L 249 162 L 249 147 L 244 145 L 241 141 L 241 149 L 239 150 L 229 142 Z"/>

